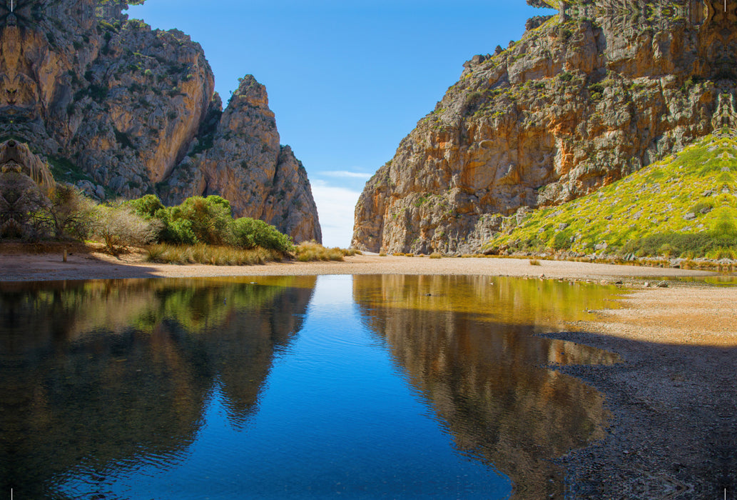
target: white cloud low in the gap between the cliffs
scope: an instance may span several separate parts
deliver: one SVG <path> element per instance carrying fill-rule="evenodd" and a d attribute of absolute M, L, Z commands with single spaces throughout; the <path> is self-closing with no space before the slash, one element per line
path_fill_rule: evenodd
<path fill-rule="evenodd" d="M 345 187 L 332 187 L 319 179 L 310 184 L 318 206 L 324 246 L 347 249 L 353 235 L 353 212 L 361 193 Z"/>

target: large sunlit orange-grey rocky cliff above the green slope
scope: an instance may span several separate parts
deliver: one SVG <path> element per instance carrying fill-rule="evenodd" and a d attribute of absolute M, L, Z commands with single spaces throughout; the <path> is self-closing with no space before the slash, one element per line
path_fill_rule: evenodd
<path fill-rule="evenodd" d="M 520 41 L 464 64 L 366 184 L 353 246 L 481 251 L 530 209 L 735 128 L 737 4 L 556 4 L 559 13 L 528 21 Z"/>

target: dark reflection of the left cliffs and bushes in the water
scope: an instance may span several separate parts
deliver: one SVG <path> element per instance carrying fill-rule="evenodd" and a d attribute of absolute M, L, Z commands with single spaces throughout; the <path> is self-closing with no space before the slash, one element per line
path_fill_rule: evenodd
<path fill-rule="evenodd" d="M 0 285 L 0 488 L 38 498 L 71 468 L 104 482 L 106 468 L 175 461 L 215 385 L 242 425 L 314 285 Z"/>

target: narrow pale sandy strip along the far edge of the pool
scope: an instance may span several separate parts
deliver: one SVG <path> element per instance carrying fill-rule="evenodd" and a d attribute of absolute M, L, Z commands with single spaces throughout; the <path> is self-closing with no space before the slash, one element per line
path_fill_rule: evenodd
<path fill-rule="evenodd" d="M 41 281 L 62 279 L 106 279 L 147 277 L 286 276 L 317 274 L 483 274 L 489 276 L 533 276 L 565 279 L 660 279 L 707 277 L 707 271 L 649 268 L 526 259 L 481 259 L 428 257 L 378 257 L 355 255 L 344 262 L 285 262 L 265 265 L 170 265 L 144 262 L 139 254 L 120 258 L 102 253 L 0 254 L 0 281 Z"/>

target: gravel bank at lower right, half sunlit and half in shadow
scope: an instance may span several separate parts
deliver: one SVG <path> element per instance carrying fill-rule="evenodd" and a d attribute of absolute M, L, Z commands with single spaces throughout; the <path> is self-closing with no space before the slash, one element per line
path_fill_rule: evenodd
<path fill-rule="evenodd" d="M 563 457 L 575 499 L 735 499 L 737 288 L 635 291 L 556 338 L 621 355 L 563 367 L 604 393 L 607 437 Z"/>

